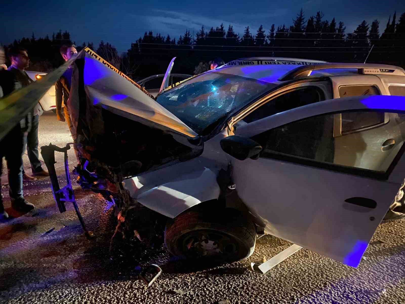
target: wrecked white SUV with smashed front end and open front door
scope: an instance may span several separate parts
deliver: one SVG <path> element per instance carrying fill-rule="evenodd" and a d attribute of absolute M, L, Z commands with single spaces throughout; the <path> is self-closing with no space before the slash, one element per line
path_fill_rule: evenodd
<path fill-rule="evenodd" d="M 243 58 L 155 100 L 87 49 L 78 183 L 140 246 L 235 261 L 269 233 L 356 267 L 405 177 L 404 88 L 396 66 Z"/>

